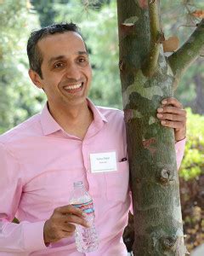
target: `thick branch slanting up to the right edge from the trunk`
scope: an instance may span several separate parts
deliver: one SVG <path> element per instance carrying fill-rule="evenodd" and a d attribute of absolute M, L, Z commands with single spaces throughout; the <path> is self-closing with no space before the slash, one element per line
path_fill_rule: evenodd
<path fill-rule="evenodd" d="M 204 19 L 198 24 L 190 38 L 172 55 L 167 58 L 168 64 L 172 68 L 176 82 L 183 75 L 184 71 L 195 61 L 204 49 Z"/>

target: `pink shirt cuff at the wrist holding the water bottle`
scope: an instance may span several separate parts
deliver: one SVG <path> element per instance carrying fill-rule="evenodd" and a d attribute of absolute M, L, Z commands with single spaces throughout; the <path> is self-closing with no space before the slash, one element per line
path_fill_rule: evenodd
<path fill-rule="evenodd" d="M 24 225 L 24 246 L 28 252 L 46 249 L 43 237 L 45 221 L 36 223 L 25 223 Z"/>

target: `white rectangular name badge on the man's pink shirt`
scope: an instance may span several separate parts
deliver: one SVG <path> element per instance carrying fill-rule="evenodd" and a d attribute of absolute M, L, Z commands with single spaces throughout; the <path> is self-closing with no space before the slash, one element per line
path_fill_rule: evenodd
<path fill-rule="evenodd" d="M 116 152 L 90 154 L 91 172 L 116 172 Z"/>

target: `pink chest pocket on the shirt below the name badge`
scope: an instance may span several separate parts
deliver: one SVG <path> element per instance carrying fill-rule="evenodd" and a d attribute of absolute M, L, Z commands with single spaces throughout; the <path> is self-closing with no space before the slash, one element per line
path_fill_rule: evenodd
<path fill-rule="evenodd" d="M 126 201 L 129 186 L 128 161 L 118 162 L 116 172 L 106 172 L 105 183 L 108 201 Z"/>

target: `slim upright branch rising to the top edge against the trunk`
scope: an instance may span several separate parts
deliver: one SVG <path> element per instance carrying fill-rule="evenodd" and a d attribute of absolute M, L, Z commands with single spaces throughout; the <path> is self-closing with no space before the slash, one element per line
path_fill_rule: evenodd
<path fill-rule="evenodd" d="M 152 77 L 156 72 L 157 61 L 159 57 L 160 48 L 160 20 L 159 20 L 159 1 L 148 0 L 149 15 L 150 15 L 150 53 L 144 64 L 142 65 L 142 72 L 146 77 Z"/>

